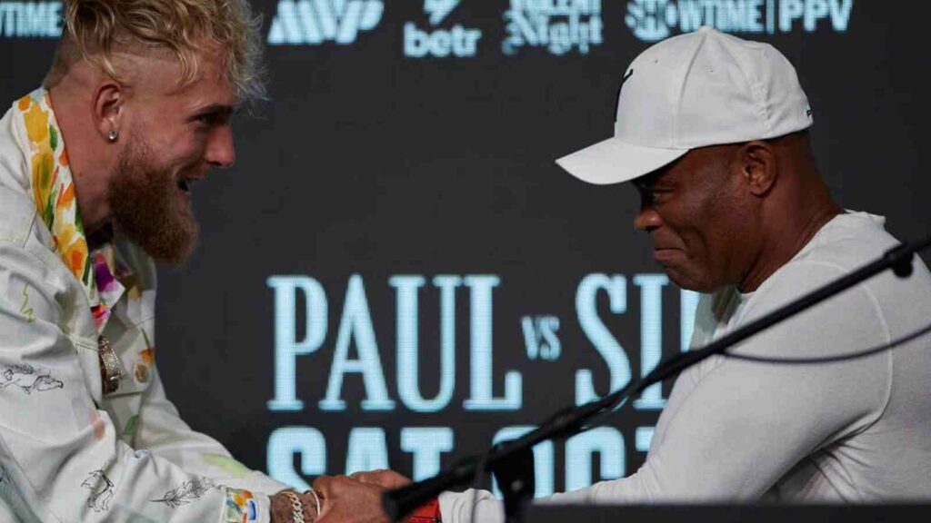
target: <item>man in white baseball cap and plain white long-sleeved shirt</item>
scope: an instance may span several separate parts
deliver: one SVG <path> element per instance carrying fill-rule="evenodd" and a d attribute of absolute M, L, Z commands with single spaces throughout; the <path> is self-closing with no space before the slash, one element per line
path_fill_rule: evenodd
<path fill-rule="evenodd" d="M 682 288 L 705 293 L 697 347 L 897 244 L 882 218 L 831 200 L 809 146 L 811 124 L 789 60 L 769 45 L 702 28 L 634 60 L 614 138 L 558 163 L 584 181 L 637 186 L 642 207 L 634 225 L 651 236 L 655 260 Z M 931 275 L 920 260 L 914 264 L 907 279 L 875 276 L 733 352 L 844 355 L 922 329 L 931 318 Z M 929 347 L 924 336 L 830 364 L 709 358 L 682 372 L 636 474 L 546 502 L 927 498 Z M 360 478 L 401 481 L 386 472 Z M 316 486 L 347 501 L 347 491 L 362 489 L 329 478 Z M 440 495 L 442 520 L 467 522 L 473 510 L 476 521 L 503 519 L 490 493 L 473 493 Z"/>

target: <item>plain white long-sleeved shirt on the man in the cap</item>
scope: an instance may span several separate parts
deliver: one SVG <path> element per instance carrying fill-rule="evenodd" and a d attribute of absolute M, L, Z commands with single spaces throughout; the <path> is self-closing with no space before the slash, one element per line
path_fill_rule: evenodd
<path fill-rule="evenodd" d="M 756 291 L 703 296 L 701 347 L 897 244 L 883 220 L 842 214 Z M 741 343 L 735 352 L 821 357 L 863 351 L 931 323 L 931 275 L 886 271 Z M 444 493 L 445 523 L 502 521 L 486 491 Z M 683 371 L 646 461 L 622 479 L 539 503 L 870 502 L 931 497 L 931 336 L 862 359 L 773 365 L 712 356 Z"/>

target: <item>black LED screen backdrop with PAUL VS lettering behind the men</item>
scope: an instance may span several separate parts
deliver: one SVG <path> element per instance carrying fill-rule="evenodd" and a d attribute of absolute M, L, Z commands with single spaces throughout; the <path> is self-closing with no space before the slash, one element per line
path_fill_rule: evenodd
<path fill-rule="evenodd" d="M 195 189 L 195 256 L 160 271 L 169 396 L 300 488 L 365 468 L 420 478 L 684 350 L 696 296 L 633 231 L 634 190 L 553 159 L 610 135 L 630 60 L 705 23 L 795 63 L 835 196 L 917 238 L 931 224 L 923 6 L 256 3 L 271 100 L 236 121 L 236 167 Z M 60 16 L 0 2 L 4 100 L 39 84 Z M 635 471 L 668 390 L 538 446 L 537 494 Z"/>

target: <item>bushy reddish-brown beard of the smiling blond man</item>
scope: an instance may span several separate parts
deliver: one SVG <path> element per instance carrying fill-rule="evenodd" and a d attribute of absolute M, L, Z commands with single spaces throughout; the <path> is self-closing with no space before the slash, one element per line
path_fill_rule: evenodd
<path fill-rule="evenodd" d="M 199 227 L 172 170 L 158 165 L 143 141 L 129 143 L 114 170 L 109 203 L 116 229 L 155 260 L 182 265 Z"/>

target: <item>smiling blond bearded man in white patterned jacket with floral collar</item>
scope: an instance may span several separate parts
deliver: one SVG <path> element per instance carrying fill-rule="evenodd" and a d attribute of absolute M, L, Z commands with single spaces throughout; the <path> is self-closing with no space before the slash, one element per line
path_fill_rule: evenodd
<path fill-rule="evenodd" d="M 43 87 L 0 120 L 0 520 L 299 522 L 317 513 L 179 418 L 155 264 L 263 98 L 244 0 L 66 0 Z"/>

